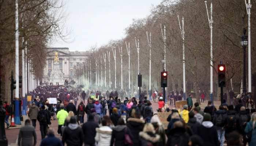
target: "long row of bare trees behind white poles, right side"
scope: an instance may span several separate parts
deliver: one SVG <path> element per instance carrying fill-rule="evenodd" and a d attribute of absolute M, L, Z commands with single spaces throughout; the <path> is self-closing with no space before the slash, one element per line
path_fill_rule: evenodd
<path fill-rule="evenodd" d="M 252 0 L 252 5 L 256 0 Z M 255 39 L 256 11 L 251 12 L 251 38 Z M 210 90 L 210 28 L 204 1 L 198 0 L 163 0 L 151 10 L 144 19 L 133 20 L 125 29 L 123 39 L 112 40 L 98 47 L 91 57 L 92 70 L 95 70 L 95 59 L 102 53 L 110 51 L 110 69 L 112 88 L 114 87 L 114 59 L 112 49 L 123 47 L 123 82 L 128 89 L 128 54 L 125 42 L 131 47 L 131 89 L 137 89 L 137 50 L 135 37 L 140 42 L 140 73 L 143 75 L 143 86 L 148 89 L 149 81 L 149 47 L 146 31 L 152 34 L 152 88 L 160 89 L 160 72 L 163 70 L 164 43 L 160 25 L 166 26 L 166 70 L 168 74 L 168 91 L 182 89 L 182 36 L 177 15 L 184 16 L 185 28 L 185 64 L 187 92 L 193 91 L 199 97 L 199 91 Z M 217 65 L 220 61 L 226 64 L 226 92 L 231 89 L 233 80 L 235 92 L 240 93 L 242 79 L 242 47 L 240 46 L 242 30 L 248 27 L 244 1 L 213 1 L 213 61 L 214 91 L 217 91 Z M 120 55 L 117 51 L 117 84 L 121 82 Z M 256 69 L 255 42 L 252 41 L 252 71 Z M 247 59 L 248 60 L 248 59 Z M 108 61 L 108 60 L 107 60 Z M 101 65 L 101 64 L 100 64 Z M 104 69 L 104 64 L 102 64 Z M 107 63 L 107 70 L 109 69 Z M 246 67 L 247 68 L 247 67 Z M 94 74 L 93 74 L 94 76 Z M 105 76 L 103 74 L 103 76 Z M 107 82 L 109 81 L 107 72 Z M 95 78 L 95 77 L 94 77 Z M 176 87 L 176 84 L 178 87 Z M 108 87 L 108 86 L 107 86 Z M 216 96 L 217 92 L 215 93 Z"/>

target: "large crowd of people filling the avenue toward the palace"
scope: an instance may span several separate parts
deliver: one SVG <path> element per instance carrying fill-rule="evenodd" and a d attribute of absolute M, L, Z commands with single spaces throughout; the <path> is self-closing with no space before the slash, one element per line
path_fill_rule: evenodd
<path fill-rule="evenodd" d="M 158 109 L 154 111 L 146 96 L 139 101 L 135 97 L 121 100 L 115 92 L 80 92 L 58 85 L 38 87 L 33 94 L 30 120 L 25 121 L 19 132 L 18 144 L 21 146 L 32 146 L 37 142 L 37 120 L 41 146 L 256 145 L 256 113 L 248 111 L 241 99 L 235 106 L 224 101 L 218 110 L 208 101 L 201 110 L 198 102 L 193 104 L 191 95 L 187 97 L 187 104 L 179 108 L 169 108 L 160 96 Z M 57 104 L 49 104 L 49 95 L 57 97 Z M 7 103 L 4 106 L 8 107 Z M 159 119 L 160 112 L 168 112 L 167 125 Z M 51 119 L 55 118 L 58 120 L 57 130 L 50 128 Z M 61 140 L 55 137 L 55 131 Z"/>

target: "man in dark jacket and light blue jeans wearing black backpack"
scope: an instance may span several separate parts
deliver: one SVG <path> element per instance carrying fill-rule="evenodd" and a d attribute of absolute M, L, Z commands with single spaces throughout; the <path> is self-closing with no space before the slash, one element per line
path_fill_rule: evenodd
<path fill-rule="evenodd" d="M 225 125 L 227 124 L 227 112 L 223 105 L 219 105 L 219 110 L 215 112 L 213 116 L 213 124 L 217 128 L 218 139 L 221 142 L 221 146 L 225 141 Z"/>

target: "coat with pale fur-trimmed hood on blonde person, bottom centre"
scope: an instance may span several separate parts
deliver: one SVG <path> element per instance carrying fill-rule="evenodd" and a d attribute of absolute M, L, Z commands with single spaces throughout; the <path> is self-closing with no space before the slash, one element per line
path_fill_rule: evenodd
<path fill-rule="evenodd" d="M 160 136 L 154 134 L 153 132 L 139 132 L 139 143 L 140 146 L 158 146 L 160 141 Z"/>

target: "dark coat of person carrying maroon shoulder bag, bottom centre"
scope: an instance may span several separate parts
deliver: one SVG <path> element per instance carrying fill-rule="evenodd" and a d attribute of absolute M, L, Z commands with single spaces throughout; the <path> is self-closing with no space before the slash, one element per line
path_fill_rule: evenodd
<path fill-rule="evenodd" d="M 128 134 L 130 138 L 133 139 L 131 131 L 126 125 L 117 125 L 114 127 L 112 131 L 110 146 L 113 146 L 113 144 L 114 146 L 126 146 L 124 144 L 125 134 Z"/>

